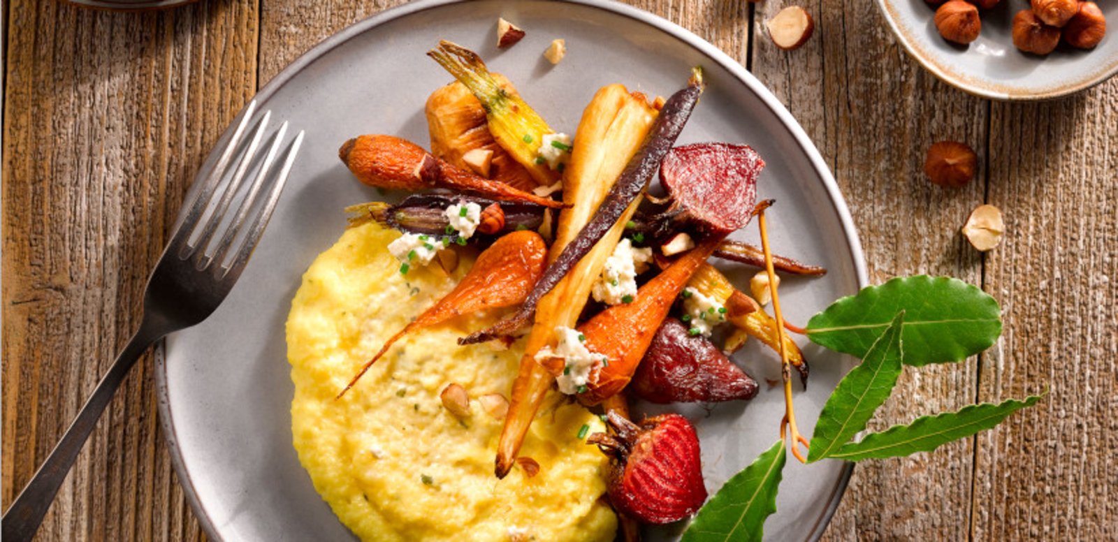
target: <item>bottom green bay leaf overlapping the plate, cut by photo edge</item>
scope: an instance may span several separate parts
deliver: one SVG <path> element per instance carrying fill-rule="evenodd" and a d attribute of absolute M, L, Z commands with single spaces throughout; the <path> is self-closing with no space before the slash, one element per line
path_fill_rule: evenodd
<path fill-rule="evenodd" d="M 707 501 L 680 542 L 761 540 L 765 520 L 776 512 L 786 459 L 784 440 L 777 440 Z"/>

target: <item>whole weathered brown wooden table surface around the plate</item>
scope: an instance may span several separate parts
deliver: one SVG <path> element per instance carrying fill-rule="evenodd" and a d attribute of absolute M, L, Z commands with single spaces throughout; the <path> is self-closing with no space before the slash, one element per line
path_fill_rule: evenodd
<path fill-rule="evenodd" d="M 873 283 L 951 275 L 1001 302 L 997 345 L 907 371 L 879 427 L 1051 389 L 977 438 L 858 466 L 826 540 L 1118 540 L 1118 78 L 1027 104 L 923 72 L 872 0 L 797 0 L 795 51 L 764 21 L 787 0 L 632 0 L 720 47 L 788 107 L 834 172 Z M 8 0 L 3 96 L 7 507 L 138 325 L 141 293 L 211 144 L 253 94 L 326 36 L 399 2 L 201 0 L 117 13 Z M 932 186 L 925 150 L 958 140 L 975 182 Z M 993 203 L 1006 235 L 958 230 Z M 38 540 L 196 540 L 155 408 L 133 370 Z"/>

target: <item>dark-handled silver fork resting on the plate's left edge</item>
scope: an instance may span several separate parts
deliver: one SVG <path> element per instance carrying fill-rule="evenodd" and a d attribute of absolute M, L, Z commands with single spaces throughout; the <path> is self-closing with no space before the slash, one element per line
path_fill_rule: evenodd
<path fill-rule="evenodd" d="M 168 333 L 206 320 L 221 304 L 245 269 L 248 257 L 275 210 L 280 192 L 303 141 L 301 131 L 281 151 L 287 132 L 287 123 L 284 122 L 272 135 L 267 153 L 263 159 L 257 156 L 272 112 L 265 112 L 257 120 L 246 140 L 244 135 L 252 124 L 255 110 L 256 103 L 249 103 L 209 175 L 205 180 L 195 181 L 200 183 L 193 190 L 196 197 L 188 203 L 190 207 L 187 213 L 179 220 L 171 240 L 148 279 L 140 330 L 97 383 L 77 418 L 31 477 L 31 482 L 3 514 L 4 542 L 30 541 L 35 536 L 58 487 L 82 450 L 82 445 L 140 355 Z M 236 168 L 230 169 L 238 156 Z M 272 167 L 277 158 L 281 168 L 273 172 Z M 256 172 L 255 179 L 247 189 L 241 190 L 246 173 L 250 170 Z M 239 205 L 235 208 L 236 213 L 230 216 L 230 205 L 234 201 L 239 201 Z M 252 224 L 244 230 L 249 218 L 253 219 Z M 214 244 L 218 231 L 222 231 L 222 235 Z M 230 253 L 234 248 L 235 251 Z M 230 254 L 231 259 L 228 257 Z"/>

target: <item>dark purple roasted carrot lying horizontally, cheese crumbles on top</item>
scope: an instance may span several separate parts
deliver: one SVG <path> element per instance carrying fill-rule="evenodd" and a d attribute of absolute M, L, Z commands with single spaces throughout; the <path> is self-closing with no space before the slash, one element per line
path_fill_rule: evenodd
<path fill-rule="evenodd" d="M 395 205 L 379 201 L 360 203 L 347 207 L 345 211 L 351 215 L 349 218 L 351 228 L 373 220 L 409 234 L 447 237 L 446 227 L 451 225 L 451 219 L 446 216 L 446 208 L 463 201 L 477 203 L 483 209 L 482 224 L 477 226 L 477 232 L 482 235 L 534 230 L 543 221 L 543 215 L 540 212 L 543 208 L 537 205 L 499 203 L 476 196 L 443 193 L 413 194 Z"/>

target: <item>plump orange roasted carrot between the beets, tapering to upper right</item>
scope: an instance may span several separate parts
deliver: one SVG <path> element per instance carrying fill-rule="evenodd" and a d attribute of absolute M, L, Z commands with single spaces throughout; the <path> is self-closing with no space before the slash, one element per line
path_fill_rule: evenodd
<path fill-rule="evenodd" d="M 726 234 L 712 235 L 672 263 L 660 275 L 637 289 L 632 303 L 614 305 L 578 326 L 586 335 L 586 348 L 605 354 L 607 365 L 591 375 L 585 392 L 578 396 L 584 405 L 597 405 L 614 396 L 633 378 L 637 363 L 652 344 L 656 330 L 667 316 L 676 297 L 691 275 L 714 253 Z"/>

